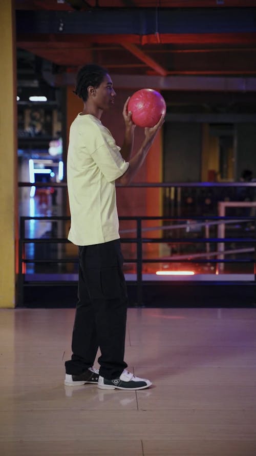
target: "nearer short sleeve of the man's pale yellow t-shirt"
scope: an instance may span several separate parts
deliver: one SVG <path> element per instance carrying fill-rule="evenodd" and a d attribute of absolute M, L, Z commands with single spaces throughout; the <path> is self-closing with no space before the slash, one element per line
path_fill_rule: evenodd
<path fill-rule="evenodd" d="M 103 144 L 91 156 L 105 176 L 105 179 L 108 182 L 113 182 L 125 173 L 129 167 L 129 163 L 123 159 L 120 153 L 120 147 L 116 145 L 112 136 L 108 136 L 107 138 L 102 136 L 102 140 Z"/>

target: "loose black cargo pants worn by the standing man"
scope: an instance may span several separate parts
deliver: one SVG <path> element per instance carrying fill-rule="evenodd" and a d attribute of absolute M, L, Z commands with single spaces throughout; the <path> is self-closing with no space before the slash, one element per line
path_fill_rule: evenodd
<path fill-rule="evenodd" d="M 120 240 L 79 247 L 78 302 L 72 337 L 72 358 L 66 373 L 93 366 L 98 347 L 99 373 L 118 378 L 124 362 L 127 292 Z"/>

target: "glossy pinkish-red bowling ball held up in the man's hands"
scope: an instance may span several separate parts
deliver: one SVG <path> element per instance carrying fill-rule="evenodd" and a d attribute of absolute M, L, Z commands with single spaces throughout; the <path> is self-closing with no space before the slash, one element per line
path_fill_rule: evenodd
<path fill-rule="evenodd" d="M 135 92 L 129 102 L 128 111 L 132 111 L 132 121 L 138 127 L 154 127 L 166 112 L 162 95 L 153 89 L 141 89 Z"/>

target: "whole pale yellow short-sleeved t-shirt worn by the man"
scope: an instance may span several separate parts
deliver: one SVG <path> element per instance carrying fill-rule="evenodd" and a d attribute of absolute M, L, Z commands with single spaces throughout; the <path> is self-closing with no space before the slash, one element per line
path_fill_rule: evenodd
<path fill-rule="evenodd" d="M 71 227 L 76 245 L 119 239 L 115 180 L 129 163 L 110 131 L 91 114 L 78 114 L 70 127 L 67 177 Z"/>

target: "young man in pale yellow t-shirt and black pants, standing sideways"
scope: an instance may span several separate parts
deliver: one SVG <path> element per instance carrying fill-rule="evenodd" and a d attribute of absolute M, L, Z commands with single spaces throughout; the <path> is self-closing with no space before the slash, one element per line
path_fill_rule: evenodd
<path fill-rule="evenodd" d="M 127 185 L 143 164 L 159 128 L 145 128 L 145 138 L 131 158 L 135 125 L 125 102 L 124 142 L 116 146 L 100 118 L 116 93 L 108 72 L 86 65 L 77 75 L 76 95 L 83 111 L 70 128 L 68 193 L 71 228 L 68 239 L 79 246 L 78 303 L 72 338 L 72 358 L 65 363 L 65 385 L 96 383 L 101 389 L 136 390 L 151 382 L 125 368 L 124 342 L 127 294 L 122 272 L 115 182 Z M 99 371 L 93 368 L 96 353 Z"/>

